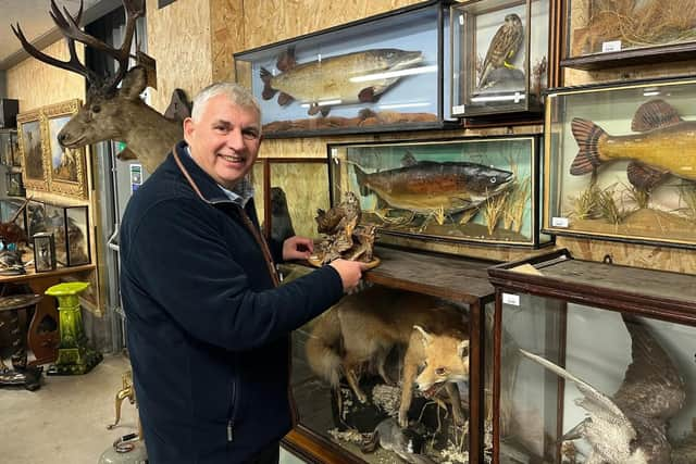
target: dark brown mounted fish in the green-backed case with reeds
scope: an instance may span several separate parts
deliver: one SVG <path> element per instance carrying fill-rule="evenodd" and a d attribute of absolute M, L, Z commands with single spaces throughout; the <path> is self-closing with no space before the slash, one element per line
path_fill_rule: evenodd
<path fill-rule="evenodd" d="M 411 161 L 396 170 L 368 174 L 355 166 L 358 184 L 372 190 L 390 206 L 430 214 L 475 208 L 512 185 L 509 171 L 469 162 Z"/>

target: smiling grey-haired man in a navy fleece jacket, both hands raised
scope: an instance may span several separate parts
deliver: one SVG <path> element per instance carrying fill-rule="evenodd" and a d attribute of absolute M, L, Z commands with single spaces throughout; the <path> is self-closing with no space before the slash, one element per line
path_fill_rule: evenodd
<path fill-rule="evenodd" d="M 289 333 L 358 285 L 337 260 L 277 287 L 274 262 L 311 254 L 268 247 L 246 178 L 261 143 L 258 102 L 217 84 L 194 100 L 184 141 L 129 201 L 121 291 L 151 463 L 277 462 L 290 429 Z"/>

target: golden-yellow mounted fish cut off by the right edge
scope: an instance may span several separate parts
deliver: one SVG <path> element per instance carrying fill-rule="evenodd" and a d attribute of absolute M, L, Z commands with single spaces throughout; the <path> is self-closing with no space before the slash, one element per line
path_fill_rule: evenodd
<path fill-rule="evenodd" d="M 574 176 L 588 174 L 611 160 L 632 160 L 629 180 L 649 189 L 669 174 L 696 180 L 696 122 L 684 121 L 663 100 L 638 108 L 631 129 L 637 135 L 611 136 L 592 121 L 571 123 L 580 151 L 570 166 Z"/>

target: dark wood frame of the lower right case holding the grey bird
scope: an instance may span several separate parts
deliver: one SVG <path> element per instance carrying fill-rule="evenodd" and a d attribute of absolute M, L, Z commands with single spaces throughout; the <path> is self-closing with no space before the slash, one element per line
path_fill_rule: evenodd
<path fill-rule="evenodd" d="M 560 278 L 551 275 L 532 275 L 513 271 L 522 264 L 529 264 L 537 269 L 549 269 L 562 263 L 573 263 L 585 268 L 585 274 L 595 278 L 580 281 L 570 278 Z M 619 290 L 611 288 L 608 283 L 597 279 L 600 275 L 597 271 L 606 269 L 602 266 L 613 266 L 621 272 L 626 283 L 632 283 L 632 290 Z M 574 260 L 566 250 L 557 250 L 551 253 L 539 254 L 531 259 L 504 263 L 488 268 L 490 284 L 496 289 L 496 310 L 494 322 L 494 419 L 493 419 L 493 463 L 499 464 L 500 450 L 500 368 L 501 368 L 501 323 L 502 323 L 502 293 L 512 291 L 519 293 L 547 297 L 562 300 L 561 327 L 564 326 L 567 303 L 592 305 L 608 311 L 630 313 L 638 316 L 667 321 L 675 324 L 696 326 L 696 275 L 679 274 L 667 271 L 645 269 L 629 266 L 619 266 L 609 263 L 596 263 L 591 261 Z M 662 288 L 679 289 L 679 297 L 669 296 L 668 290 L 650 291 Z M 564 365 L 566 330 L 561 330 L 559 337 L 560 365 Z M 563 412 L 563 380 L 558 384 L 557 405 L 557 434 L 560 429 Z M 560 436 L 560 435 L 557 435 Z M 557 446 L 557 457 L 560 455 L 560 444 Z M 560 462 L 560 461 L 559 461 Z"/>

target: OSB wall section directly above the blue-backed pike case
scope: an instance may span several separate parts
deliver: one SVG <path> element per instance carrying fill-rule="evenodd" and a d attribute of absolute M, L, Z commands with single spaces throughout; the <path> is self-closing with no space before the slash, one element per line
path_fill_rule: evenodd
<path fill-rule="evenodd" d="M 246 49 L 372 16 L 420 0 L 265 0 L 244 4 Z"/>

